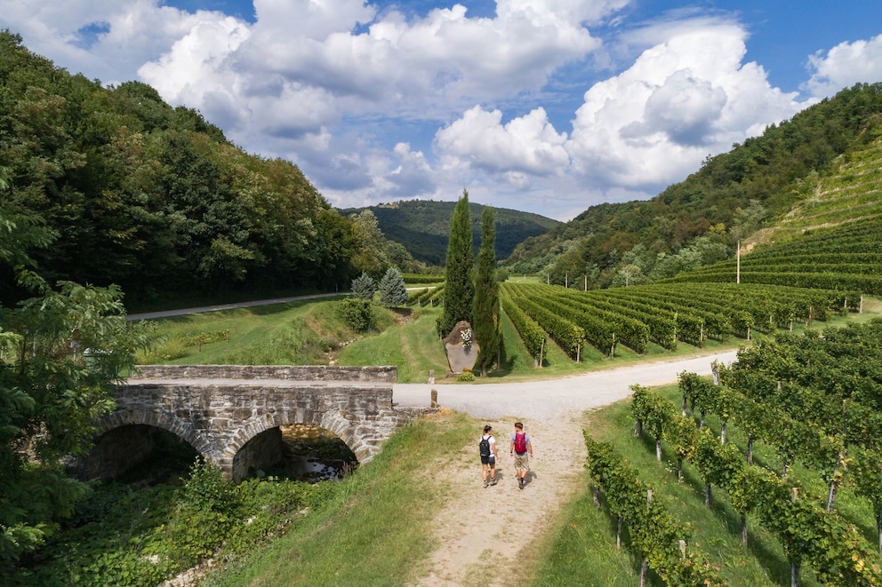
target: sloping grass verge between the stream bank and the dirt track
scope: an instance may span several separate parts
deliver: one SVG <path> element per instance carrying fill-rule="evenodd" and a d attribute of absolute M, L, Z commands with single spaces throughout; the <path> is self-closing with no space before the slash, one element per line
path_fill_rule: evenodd
<path fill-rule="evenodd" d="M 472 440 L 479 423 L 446 413 L 397 432 L 344 481 L 333 503 L 247 559 L 209 577 L 233 585 L 392 587 L 420 576 L 435 541 L 431 521 L 451 488 L 431 472 Z"/>

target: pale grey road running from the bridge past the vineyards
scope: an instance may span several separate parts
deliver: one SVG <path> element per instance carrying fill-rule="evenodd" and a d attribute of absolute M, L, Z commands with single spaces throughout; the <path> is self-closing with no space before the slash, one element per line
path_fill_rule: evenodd
<path fill-rule="evenodd" d="M 652 361 L 631 367 L 596 371 L 576 377 L 510 384 L 395 384 L 392 401 L 401 406 L 429 406 L 431 390 L 438 404 L 472 416 L 496 419 L 515 416 L 550 421 L 570 409 L 590 409 L 622 400 L 630 385 L 676 383 L 679 373 L 710 375 L 713 361 L 731 364 L 737 351 L 713 353 L 691 359 Z"/>

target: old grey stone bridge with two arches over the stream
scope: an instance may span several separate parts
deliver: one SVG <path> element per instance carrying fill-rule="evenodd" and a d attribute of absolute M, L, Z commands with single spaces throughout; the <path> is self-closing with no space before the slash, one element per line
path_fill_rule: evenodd
<path fill-rule="evenodd" d="M 242 480 L 281 456 L 279 426 L 332 432 L 365 463 L 425 409 L 393 405 L 395 367 L 146 365 L 118 385 L 116 410 L 79 474 L 114 477 L 148 455 L 156 428 L 173 432 Z"/>

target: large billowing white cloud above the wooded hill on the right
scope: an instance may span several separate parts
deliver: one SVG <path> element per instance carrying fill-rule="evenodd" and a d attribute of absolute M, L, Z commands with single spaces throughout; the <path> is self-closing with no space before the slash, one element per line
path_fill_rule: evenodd
<path fill-rule="evenodd" d="M 697 20 L 663 31 L 670 36 L 626 71 L 585 92 L 566 143 L 581 176 L 660 189 L 806 106 L 773 88 L 762 67 L 742 63 L 743 28 Z"/>

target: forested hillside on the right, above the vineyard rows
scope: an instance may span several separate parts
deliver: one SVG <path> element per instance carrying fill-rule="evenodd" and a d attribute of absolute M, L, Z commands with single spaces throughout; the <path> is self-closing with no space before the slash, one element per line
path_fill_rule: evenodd
<path fill-rule="evenodd" d="M 602 204 L 503 260 L 514 273 L 589 287 L 654 282 L 734 255 L 738 240 L 813 197 L 840 155 L 882 134 L 882 83 L 858 84 L 710 157 L 645 202 Z M 574 279 L 575 278 L 575 279 Z"/>

